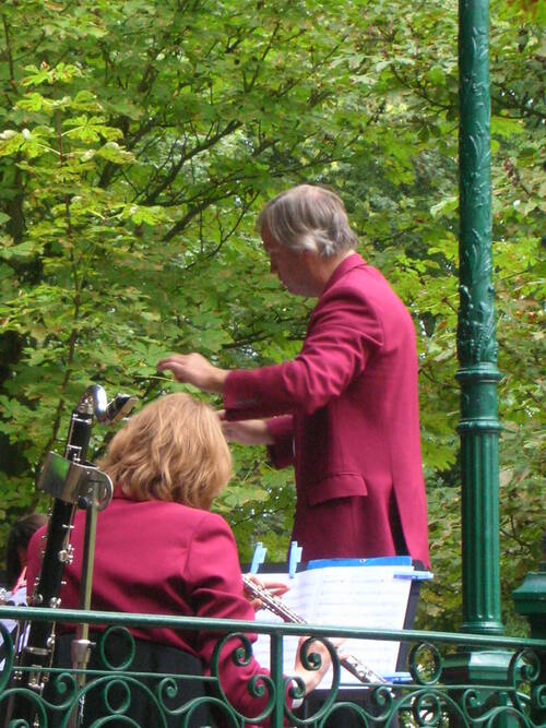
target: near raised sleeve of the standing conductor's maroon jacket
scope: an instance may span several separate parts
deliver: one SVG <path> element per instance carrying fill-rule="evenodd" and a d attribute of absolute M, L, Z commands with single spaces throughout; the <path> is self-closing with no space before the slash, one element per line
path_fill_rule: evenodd
<path fill-rule="evenodd" d="M 293 361 L 228 374 L 226 419 L 311 415 L 344 392 L 382 345 L 381 321 L 364 296 L 351 288 L 336 290 L 314 309 Z"/>

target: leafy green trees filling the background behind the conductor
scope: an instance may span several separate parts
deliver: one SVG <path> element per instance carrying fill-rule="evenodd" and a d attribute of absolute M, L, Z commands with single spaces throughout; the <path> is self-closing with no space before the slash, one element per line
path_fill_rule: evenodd
<path fill-rule="evenodd" d="M 360 252 L 419 338 L 435 582 L 419 625 L 461 621 L 456 3 L 4 0 L 0 10 L 0 544 L 36 506 L 90 382 L 146 402 L 155 362 L 294 356 L 312 301 L 265 275 L 263 203 L 343 196 Z M 544 529 L 544 0 L 490 4 L 501 578 L 511 606 Z M 93 456 L 108 431 L 95 428 Z M 284 559 L 292 473 L 237 449 L 216 508 L 241 561 Z"/>

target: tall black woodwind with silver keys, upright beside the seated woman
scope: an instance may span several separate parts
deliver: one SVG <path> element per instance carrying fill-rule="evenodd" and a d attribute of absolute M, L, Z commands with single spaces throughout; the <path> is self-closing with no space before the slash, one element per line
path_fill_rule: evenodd
<path fill-rule="evenodd" d="M 110 403 L 98 384 L 90 385 L 73 409 L 64 456 L 50 452 L 38 479 L 37 488 L 49 493 L 52 499 L 51 514 L 46 534 L 46 547 L 41 569 L 29 606 L 60 606 L 60 590 L 64 564 L 72 561 L 70 534 L 75 511 L 79 508 L 96 510 L 106 508 L 111 499 L 112 485 L 109 477 L 86 462 L 87 449 L 94 420 L 103 425 L 114 425 L 126 417 L 136 404 L 136 398 L 118 394 Z M 13 692 L 8 705 L 8 726 L 13 720 L 25 720 L 35 726 L 36 705 L 27 691 L 41 695 L 47 682 L 47 671 L 54 658 L 55 621 L 31 621 L 25 644 L 15 655 L 11 688 Z M 24 668 L 24 669 L 22 669 Z M 19 725 L 19 723 L 17 723 Z"/>

